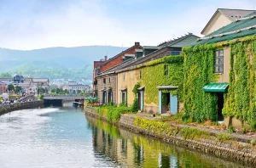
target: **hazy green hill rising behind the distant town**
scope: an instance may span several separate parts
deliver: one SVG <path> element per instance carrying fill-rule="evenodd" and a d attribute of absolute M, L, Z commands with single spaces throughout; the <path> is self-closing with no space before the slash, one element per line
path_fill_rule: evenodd
<path fill-rule="evenodd" d="M 13 50 L 0 48 L 0 72 L 49 79 L 91 79 L 93 61 L 108 58 L 126 48 L 84 46 L 76 48 L 42 48 Z"/>

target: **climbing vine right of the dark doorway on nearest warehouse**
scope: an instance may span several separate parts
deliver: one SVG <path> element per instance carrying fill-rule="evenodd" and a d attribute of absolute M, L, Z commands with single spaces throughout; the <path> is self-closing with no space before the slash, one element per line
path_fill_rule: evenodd
<path fill-rule="evenodd" d="M 230 87 L 225 98 L 224 115 L 235 116 L 256 128 L 256 41 L 230 45 Z"/>

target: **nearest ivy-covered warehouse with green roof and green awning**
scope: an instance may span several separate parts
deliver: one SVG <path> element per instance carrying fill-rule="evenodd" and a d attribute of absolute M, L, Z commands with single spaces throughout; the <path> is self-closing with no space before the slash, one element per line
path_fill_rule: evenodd
<path fill-rule="evenodd" d="M 183 49 L 185 115 L 256 127 L 255 34 L 252 13 Z"/>

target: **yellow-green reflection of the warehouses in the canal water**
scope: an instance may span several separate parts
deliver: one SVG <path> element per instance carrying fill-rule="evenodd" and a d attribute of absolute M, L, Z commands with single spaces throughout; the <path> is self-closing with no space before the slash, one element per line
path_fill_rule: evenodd
<path fill-rule="evenodd" d="M 96 157 L 125 167 L 245 167 L 214 156 L 180 148 L 152 137 L 118 129 L 86 115 Z"/>

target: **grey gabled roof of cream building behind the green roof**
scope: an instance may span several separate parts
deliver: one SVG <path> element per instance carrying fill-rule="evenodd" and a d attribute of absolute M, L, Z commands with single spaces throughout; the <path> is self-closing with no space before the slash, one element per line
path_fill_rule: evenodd
<path fill-rule="evenodd" d="M 207 26 L 211 23 L 211 21 L 214 19 L 216 14 L 218 14 L 218 12 L 220 14 L 224 14 L 224 16 L 227 17 L 230 21 L 236 21 L 237 19 L 243 18 L 243 17 L 247 16 L 248 14 L 252 14 L 255 11 L 256 10 L 218 8 L 216 10 L 216 12 L 212 15 L 212 18 L 208 21 L 207 25 L 201 31 L 201 34 L 203 34 L 203 31 L 205 31 L 207 29 Z"/>

